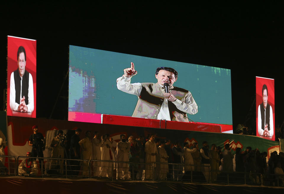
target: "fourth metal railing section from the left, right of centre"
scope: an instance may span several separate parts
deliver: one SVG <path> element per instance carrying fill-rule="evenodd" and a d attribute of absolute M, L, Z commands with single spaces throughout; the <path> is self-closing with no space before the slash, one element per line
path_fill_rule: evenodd
<path fill-rule="evenodd" d="M 210 183 L 211 180 L 210 166 L 155 162 L 154 168 L 155 180 L 164 180 L 166 178 L 166 180 L 191 183 Z M 167 170 L 172 173 L 167 173 L 165 177 L 165 171 Z"/>

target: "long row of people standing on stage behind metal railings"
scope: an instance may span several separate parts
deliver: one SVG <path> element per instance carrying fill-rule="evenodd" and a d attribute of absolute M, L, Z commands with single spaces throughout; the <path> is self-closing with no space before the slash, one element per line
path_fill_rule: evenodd
<path fill-rule="evenodd" d="M 37 132 L 37 126 L 33 126 L 34 134 L 31 135 L 29 145 L 33 146 L 32 153 L 27 153 L 29 157 L 41 157 L 37 147 L 43 146 L 42 135 Z M 114 143 L 108 134 L 100 135 L 99 132 L 85 132 L 85 137 L 80 139 L 82 130 L 76 129 L 75 134 L 70 138 L 64 138 L 62 130 L 57 131 L 57 136 L 51 141 L 51 158 L 69 158 L 70 171 L 72 175 L 89 176 L 89 161 L 91 163 L 91 176 L 94 177 L 114 177 L 112 172 L 116 172 L 117 179 L 152 180 L 153 175 L 156 180 L 181 181 L 190 179 L 190 174 L 203 177 L 209 182 L 217 181 L 220 171 L 224 173 L 237 171 L 249 173 L 251 182 L 259 184 L 260 176 L 257 174 L 284 175 L 284 153 L 279 155 L 276 151 L 270 154 L 267 162 L 267 153 L 260 153 L 258 149 L 252 150 L 246 147 L 235 150 L 235 155 L 230 150 L 230 145 L 226 144 L 224 150 L 215 144 L 211 149 L 206 141 L 202 142 L 199 149 L 197 142 L 189 145 L 184 142 L 172 142 L 170 139 L 162 140 L 156 138 L 156 134 L 149 134 L 147 137 L 120 135 L 120 141 Z M 38 140 L 36 140 L 38 138 Z M 38 146 L 40 144 L 41 146 Z M 67 146 L 68 145 L 68 146 Z M 43 146 L 44 147 L 44 146 Z M 39 149 L 41 152 L 43 148 Z M 66 150 L 68 152 L 66 152 Z M 85 160 L 85 161 L 78 161 Z M 39 160 L 41 165 L 42 160 Z M 50 161 L 48 174 L 63 174 L 64 160 L 52 159 Z M 155 172 L 153 174 L 153 163 Z M 36 165 L 32 159 L 25 159 L 19 166 L 21 174 L 37 174 L 35 169 L 43 167 Z M 209 168 L 210 167 L 210 168 Z M 30 168 L 30 169 L 29 169 Z M 25 172 L 26 169 L 26 172 Z M 210 170 L 212 173 L 209 175 Z M 279 176 L 284 180 L 283 176 Z M 284 182 L 283 182 L 284 183 Z"/>

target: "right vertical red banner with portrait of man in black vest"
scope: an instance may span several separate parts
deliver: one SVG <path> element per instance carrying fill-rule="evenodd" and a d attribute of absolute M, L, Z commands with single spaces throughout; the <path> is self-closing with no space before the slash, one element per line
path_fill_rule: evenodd
<path fill-rule="evenodd" d="M 274 79 L 256 77 L 256 136 L 275 140 Z"/>

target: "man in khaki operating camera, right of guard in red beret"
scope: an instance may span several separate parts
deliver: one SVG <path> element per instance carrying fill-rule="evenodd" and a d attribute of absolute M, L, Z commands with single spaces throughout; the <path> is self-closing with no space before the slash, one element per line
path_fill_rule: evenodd
<path fill-rule="evenodd" d="M 66 139 L 63 136 L 63 131 L 58 130 L 57 136 L 51 141 L 50 147 L 52 147 L 51 158 L 61 158 L 64 159 L 64 149 L 65 149 Z M 58 170 L 57 174 L 63 174 L 63 162 L 64 160 L 51 160 L 50 170 Z M 59 166 L 58 166 L 59 165 Z M 53 174 L 53 173 L 49 173 Z"/>

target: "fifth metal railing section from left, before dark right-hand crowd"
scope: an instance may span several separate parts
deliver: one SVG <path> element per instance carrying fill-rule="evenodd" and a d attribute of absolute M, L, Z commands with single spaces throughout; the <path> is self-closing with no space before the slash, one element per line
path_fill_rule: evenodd
<path fill-rule="evenodd" d="M 262 185 L 262 174 L 251 172 L 236 172 L 236 171 L 216 171 L 211 172 L 212 182 L 216 184 L 245 184 L 245 185 Z"/>

